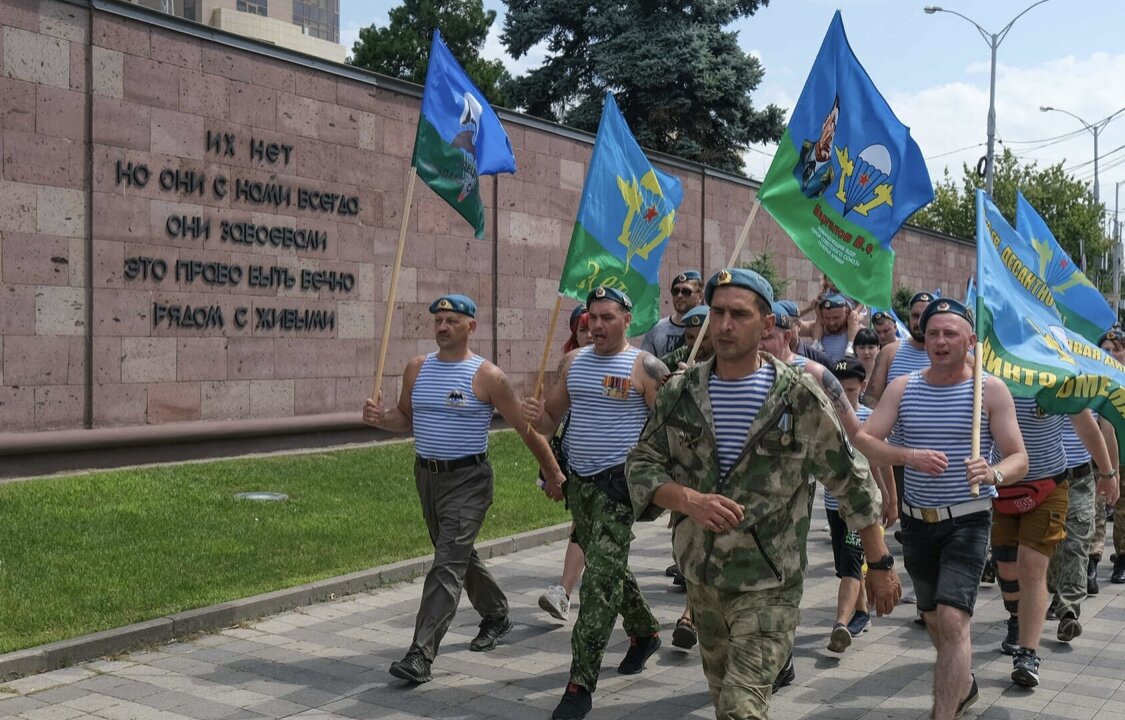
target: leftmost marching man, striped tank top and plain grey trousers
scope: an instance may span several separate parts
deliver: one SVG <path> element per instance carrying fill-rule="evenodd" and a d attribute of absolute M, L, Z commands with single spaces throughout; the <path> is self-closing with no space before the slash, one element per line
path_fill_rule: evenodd
<path fill-rule="evenodd" d="M 414 641 L 390 674 L 412 682 L 432 680 L 431 665 L 457 612 L 464 587 L 480 613 L 480 631 L 469 644 L 490 650 L 512 629 L 507 598 L 472 548 L 492 505 L 493 472 L 488 465 L 488 428 L 500 411 L 536 456 L 546 490 L 561 500 L 562 472 L 547 441 L 526 430 L 520 400 L 504 372 L 469 349 L 477 327 L 477 306 L 464 295 L 446 295 L 430 306 L 438 352 L 406 363 L 398 404 L 382 398 L 363 404 L 363 422 L 393 432 L 413 430 L 417 457 L 414 479 L 433 565 L 422 586 Z"/>

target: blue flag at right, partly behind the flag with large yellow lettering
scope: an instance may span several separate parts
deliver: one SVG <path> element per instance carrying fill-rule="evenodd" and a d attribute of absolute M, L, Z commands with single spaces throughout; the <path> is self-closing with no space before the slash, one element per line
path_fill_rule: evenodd
<path fill-rule="evenodd" d="M 1081 268 L 1059 245 L 1023 192 L 1016 194 L 1016 233 L 1023 243 L 1018 246 L 1020 259 L 1051 287 L 1066 327 L 1097 342 L 1101 333 L 1117 322 L 1117 316 Z"/>

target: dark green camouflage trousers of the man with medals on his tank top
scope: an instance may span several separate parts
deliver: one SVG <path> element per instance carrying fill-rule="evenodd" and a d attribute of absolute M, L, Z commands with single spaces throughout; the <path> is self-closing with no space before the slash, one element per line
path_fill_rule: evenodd
<path fill-rule="evenodd" d="M 629 570 L 632 507 L 573 476 L 566 484 L 566 500 L 574 515 L 574 537 L 586 554 L 578 620 L 570 634 L 570 682 L 594 692 L 618 615 L 630 637 L 656 634 L 660 623 Z"/>

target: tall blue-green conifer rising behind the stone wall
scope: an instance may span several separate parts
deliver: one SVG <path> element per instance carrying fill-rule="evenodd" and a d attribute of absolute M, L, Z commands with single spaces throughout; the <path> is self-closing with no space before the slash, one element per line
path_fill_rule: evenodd
<path fill-rule="evenodd" d="M 644 147 L 742 172 L 741 151 L 776 141 L 784 114 L 755 109 L 758 60 L 723 28 L 768 0 L 505 0 L 502 40 L 547 61 L 508 86 L 515 107 L 594 132 L 605 92 Z"/>

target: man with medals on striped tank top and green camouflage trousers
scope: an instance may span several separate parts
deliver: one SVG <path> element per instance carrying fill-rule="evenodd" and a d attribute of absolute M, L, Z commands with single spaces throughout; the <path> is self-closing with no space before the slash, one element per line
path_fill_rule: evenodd
<path fill-rule="evenodd" d="M 586 307 L 593 344 L 562 360 L 559 379 L 542 402 L 523 400 L 526 422 L 546 435 L 570 412 L 564 440 L 570 466 L 566 498 L 575 537 L 586 554 L 578 620 L 570 636 L 570 681 L 551 714 L 554 720 L 578 720 L 590 712 L 602 656 L 619 614 L 630 639 L 619 673 L 640 673 L 660 647 L 660 626 L 629 570 L 633 515 L 624 461 L 668 369 L 629 344 L 629 296 L 598 287 L 587 296 Z"/>

